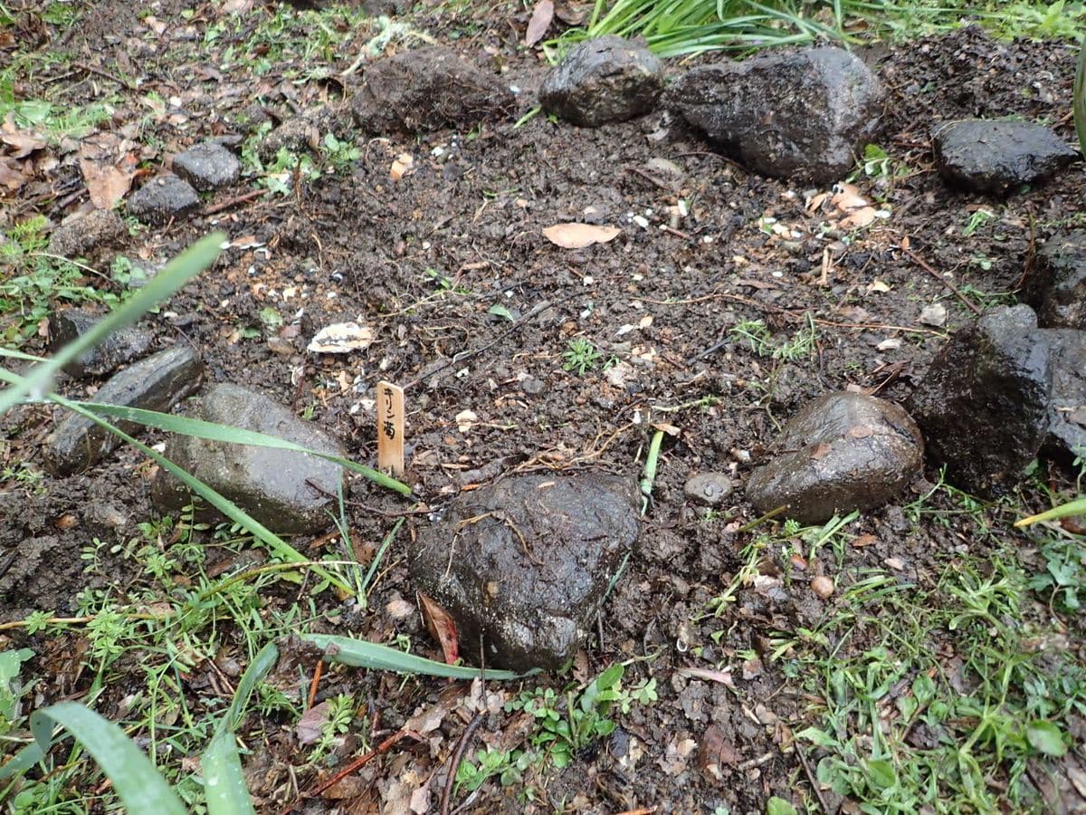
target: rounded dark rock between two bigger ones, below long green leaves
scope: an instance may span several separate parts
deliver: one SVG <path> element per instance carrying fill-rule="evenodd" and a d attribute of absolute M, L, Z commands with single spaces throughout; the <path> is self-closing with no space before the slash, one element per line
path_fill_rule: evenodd
<path fill-rule="evenodd" d="M 598 127 L 648 113 L 664 63 L 643 43 L 607 36 L 576 46 L 540 87 L 540 103 L 574 125 Z"/>

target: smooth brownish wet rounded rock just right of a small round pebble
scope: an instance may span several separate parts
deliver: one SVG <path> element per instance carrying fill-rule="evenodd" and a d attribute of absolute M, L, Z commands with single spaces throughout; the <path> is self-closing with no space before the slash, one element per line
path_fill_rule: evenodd
<path fill-rule="evenodd" d="M 889 501 L 924 463 L 920 429 L 900 406 L 862 393 L 826 393 L 788 419 L 773 456 L 750 474 L 759 512 L 820 524 Z"/>

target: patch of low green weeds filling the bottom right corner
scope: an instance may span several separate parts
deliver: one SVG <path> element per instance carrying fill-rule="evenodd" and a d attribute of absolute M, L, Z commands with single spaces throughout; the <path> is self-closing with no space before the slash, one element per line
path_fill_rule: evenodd
<path fill-rule="evenodd" d="M 818 724 L 796 734 L 819 751 L 818 780 L 872 812 L 1038 806 L 1026 762 L 1066 750 L 1086 667 L 1031 644 L 1026 589 L 1000 557 L 957 559 L 929 589 L 870 573 L 832 619 L 778 649 L 821 699 Z M 864 647 L 848 655 L 848 641 Z"/>

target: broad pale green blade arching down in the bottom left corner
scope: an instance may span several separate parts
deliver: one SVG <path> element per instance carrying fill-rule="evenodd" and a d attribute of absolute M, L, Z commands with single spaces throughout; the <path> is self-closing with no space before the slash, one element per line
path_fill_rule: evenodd
<path fill-rule="evenodd" d="M 150 760 L 117 725 L 76 702 L 61 702 L 30 716 L 67 729 L 90 753 L 130 813 L 186 815 L 185 805 Z M 35 728 L 40 732 L 40 727 Z M 7 767 L 5 767 L 7 769 Z"/>

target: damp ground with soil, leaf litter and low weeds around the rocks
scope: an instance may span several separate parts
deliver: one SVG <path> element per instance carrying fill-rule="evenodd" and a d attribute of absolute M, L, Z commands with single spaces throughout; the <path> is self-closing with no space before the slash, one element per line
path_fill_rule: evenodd
<path fill-rule="evenodd" d="M 15 98 L 49 99 L 58 111 L 109 104 L 93 128 L 130 139 L 150 168 L 206 137 L 255 146 L 262 115 L 344 104 L 357 77 L 340 74 L 379 33 L 357 9 L 326 12 L 319 25 L 315 12 L 261 3 L 90 3 L 79 14 L 72 27 L 29 10 L 15 15 L 15 45 L 3 52 L 26 59 Z M 642 534 L 598 630 L 565 675 L 489 684 L 500 695 L 462 762 L 479 764 L 487 745 L 510 766 L 516 751 L 529 760 L 506 783 L 501 774 L 476 792 L 462 782 L 454 804 L 480 813 L 747 813 L 765 812 L 774 797 L 811 812 L 857 812 L 860 801 L 936 812 L 940 797 L 959 812 L 1086 805 L 1081 618 L 1069 605 L 1074 592 L 1043 579 L 1059 553 L 1082 569 L 1082 530 L 1012 530 L 1021 514 L 1047 509 L 1047 489 L 1072 489 L 1073 472 L 1043 463 L 1013 500 L 986 505 L 929 469 L 896 505 L 815 530 L 779 518 L 753 524 L 742 489 L 781 424 L 809 400 L 851 388 L 904 401 L 949 334 L 975 309 L 1014 302 L 1038 246 L 1082 223 L 1081 166 L 1007 201 L 970 196 L 939 179 L 930 138 L 946 120 L 1020 116 L 1072 142 L 1074 50 L 996 41 L 977 28 L 861 49 L 889 101 L 881 150 L 849 180 L 879 217 L 850 229 L 832 190 L 747 173 L 664 112 L 598 129 L 544 114 L 518 125 L 546 70 L 517 42 L 525 12 L 424 10 L 411 22 L 519 87 L 514 115 L 417 139 L 356 134 L 357 155 L 334 172 L 318 154 L 319 178 L 286 172 L 263 197 L 248 195 L 265 174 L 247 164 L 197 215 L 164 227 L 131 223 L 117 250 L 87 260 L 108 278 L 116 256 L 161 262 L 226 231 L 231 247 L 216 265 L 141 325 L 160 347 L 198 348 L 207 381 L 262 390 L 337 435 L 362 463 L 376 454 L 376 381 L 405 386 L 406 480 L 432 512 L 515 473 L 640 478 L 655 428 L 666 428 Z M 681 70 L 669 64 L 671 76 Z M 66 135 L 38 153 L 50 160 L 5 200 L 5 230 L 37 214 L 59 223 L 87 202 L 77 143 Z M 393 180 L 404 153 L 413 170 Z M 665 176 L 655 160 L 679 174 Z M 582 250 L 543 237 L 570 221 L 621 234 Z M 98 275 L 85 283 L 123 290 Z M 21 319 L 3 318 L 5 329 Z M 350 355 L 305 351 L 318 329 L 344 321 L 371 327 L 374 343 Z M 23 351 L 46 350 L 38 323 L 20 330 Z M 97 384 L 59 387 L 83 398 Z M 152 465 L 135 450 L 81 475 L 42 475 L 52 415 L 25 406 L 3 417 L 0 622 L 36 612 L 90 617 L 110 603 L 154 611 L 201 575 L 267 561 L 228 530 L 187 529 L 177 518 L 141 529 L 155 522 Z M 683 492 L 707 471 L 735 485 L 711 511 Z M 368 564 L 408 505 L 362 479 L 351 488 L 348 554 Z M 227 615 L 211 649 L 186 652 L 186 640 L 175 640 L 167 695 L 176 710 L 159 717 L 163 731 L 197 732 L 194 722 L 222 710 L 254 638 L 292 627 L 440 659 L 417 613 L 404 613 L 415 602 L 407 536 L 428 523 L 426 513 L 408 516 L 366 610 L 317 593 L 312 576 L 267 573 L 247 601 L 245 625 Z M 187 548 L 155 575 L 148 541 L 167 557 L 174 544 Z M 315 559 L 344 554 L 334 535 L 294 544 Z M 812 588 L 822 576 L 834 585 L 826 598 Z M 106 659 L 100 632 L 80 624 L 0 635 L 5 648 L 35 651 L 23 667 L 36 680 L 26 712 L 93 689 L 99 712 L 132 726 L 144 748 L 155 740 L 174 780 L 194 788 L 180 753 L 188 744 L 195 756 L 202 742 L 171 744 L 140 725 L 150 645 L 122 639 Z M 316 656 L 291 656 L 307 682 Z M 628 688 L 655 679 L 657 699 L 613 711 L 614 732 L 576 750 L 566 767 L 532 752 L 531 717 L 503 703 L 535 687 L 576 689 L 618 662 L 628 663 Z M 976 706 L 940 718 L 923 677 L 935 701 L 947 694 Z M 355 715 L 316 757 L 300 743 L 305 692 L 301 701 L 292 692 L 289 704 L 262 695 L 240 730 L 261 812 L 440 811 L 470 718 L 460 711 L 446 711 L 427 741 L 397 743 L 330 791 L 299 793 L 420 709 L 451 710 L 465 684 L 329 669 L 316 699 L 352 694 Z M 998 704 L 985 707 L 987 699 Z M 1058 724 L 1064 751 L 1041 750 L 1022 731 L 1035 719 Z M 924 779 L 943 777 L 952 794 L 944 789 L 925 804 Z M 967 777 L 980 788 L 965 790 Z M 89 765 L 64 778 L 61 800 L 102 811 L 102 780 Z"/>

